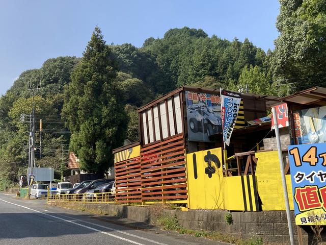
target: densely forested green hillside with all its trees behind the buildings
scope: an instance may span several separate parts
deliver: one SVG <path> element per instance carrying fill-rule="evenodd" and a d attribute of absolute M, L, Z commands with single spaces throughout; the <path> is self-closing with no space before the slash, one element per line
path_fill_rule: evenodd
<path fill-rule="evenodd" d="M 285 95 L 323 85 L 326 11 L 318 2 L 281 1 L 280 36 L 275 51 L 267 52 L 247 38 L 209 37 L 188 27 L 149 37 L 142 47 L 107 45 L 95 28 L 83 57 L 51 58 L 39 69 L 22 71 L 0 98 L 0 188 L 16 183 L 28 166 L 29 85 L 41 83 L 34 91 L 36 116 L 44 129 L 36 164 L 54 167 L 60 179 L 71 150 L 83 169 L 103 173 L 113 164 L 113 148 L 124 138 L 138 140 L 137 108 L 179 86 Z M 311 31 L 300 38 L 303 25 Z M 36 129 L 39 145 L 39 121 Z"/>

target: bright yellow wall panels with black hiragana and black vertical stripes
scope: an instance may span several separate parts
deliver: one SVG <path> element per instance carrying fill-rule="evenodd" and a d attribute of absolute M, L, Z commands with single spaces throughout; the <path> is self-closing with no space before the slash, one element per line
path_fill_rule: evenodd
<path fill-rule="evenodd" d="M 224 177 L 221 148 L 186 157 L 190 209 L 259 211 L 255 176 Z"/>

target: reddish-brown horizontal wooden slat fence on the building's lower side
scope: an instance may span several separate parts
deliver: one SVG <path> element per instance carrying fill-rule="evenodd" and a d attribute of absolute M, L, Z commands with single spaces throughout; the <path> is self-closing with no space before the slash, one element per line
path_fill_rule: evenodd
<path fill-rule="evenodd" d="M 183 135 L 141 148 L 140 158 L 115 164 L 119 203 L 187 200 Z"/>

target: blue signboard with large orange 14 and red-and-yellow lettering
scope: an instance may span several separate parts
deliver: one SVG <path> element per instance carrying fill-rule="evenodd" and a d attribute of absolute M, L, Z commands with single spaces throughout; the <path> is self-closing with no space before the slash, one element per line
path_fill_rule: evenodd
<path fill-rule="evenodd" d="M 289 145 L 296 225 L 326 225 L 326 143 Z"/>

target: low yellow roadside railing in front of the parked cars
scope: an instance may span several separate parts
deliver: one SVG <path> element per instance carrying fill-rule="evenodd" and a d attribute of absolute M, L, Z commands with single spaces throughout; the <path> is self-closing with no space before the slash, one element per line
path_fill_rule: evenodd
<path fill-rule="evenodd" d="M 115 203 L 115 195 L 111 192 L 83 193 L 83 194 L 48 194 L 48 202 L 71 203 Z"/>

